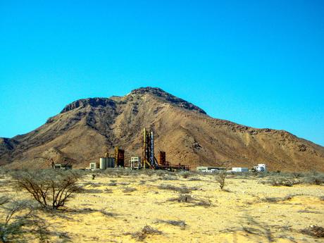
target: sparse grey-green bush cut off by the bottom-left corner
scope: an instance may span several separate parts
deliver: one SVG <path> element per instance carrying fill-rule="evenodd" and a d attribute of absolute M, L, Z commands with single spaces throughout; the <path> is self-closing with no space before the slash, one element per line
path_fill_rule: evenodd
<path fill-rule="evenodd" d="M 0 242 L 44 242 L 49 236 L 46 221 L 30 201 L 0 198 Z"/>

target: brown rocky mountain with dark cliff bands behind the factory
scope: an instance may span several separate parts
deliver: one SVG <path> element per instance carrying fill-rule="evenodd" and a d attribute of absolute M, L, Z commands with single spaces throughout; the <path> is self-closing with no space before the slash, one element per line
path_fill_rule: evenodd
<path fill-rule="evenodd" d="M 324 147 L 283 130 L 256 129 L 211 118 L 201 108 L 158 88 L 125 96 L 80 99 L 25 135 L 0 139 L 0 165 L 46 168 L 56 163 L 89 166 L 108 150 L 140 156 L 143 127 L 155 131 L 156 151 L 171 163 L 251 166 L 270 170 L 324 170 Z"/>

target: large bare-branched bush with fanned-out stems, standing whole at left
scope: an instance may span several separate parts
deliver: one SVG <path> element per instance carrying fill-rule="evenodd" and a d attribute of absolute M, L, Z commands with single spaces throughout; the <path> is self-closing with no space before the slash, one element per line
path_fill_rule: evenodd
<path fill-rule="evenodd" d="M 28 170 L 13 175 L 18 189 L 30 193 L 45 208 L 58 209 L 79 192 L 80 174 L 63 170 Z"/>

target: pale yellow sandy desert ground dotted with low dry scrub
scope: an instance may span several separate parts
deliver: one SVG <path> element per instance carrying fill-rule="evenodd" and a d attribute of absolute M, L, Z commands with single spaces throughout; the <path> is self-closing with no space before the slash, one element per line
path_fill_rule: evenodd
<path fill-rule="evenodd" d="M 324 187 L 264 180 L 229 177 L 222 191 L 213 175 L 86 175 L 68 211 L 43 217 L 61 232 L 53 242 L 324 242 L 300 232 L 324 227 Z M 28 197 L 3 184 L 1 195 Z M 156 232 L 142 232 L 147 225 Z"/>

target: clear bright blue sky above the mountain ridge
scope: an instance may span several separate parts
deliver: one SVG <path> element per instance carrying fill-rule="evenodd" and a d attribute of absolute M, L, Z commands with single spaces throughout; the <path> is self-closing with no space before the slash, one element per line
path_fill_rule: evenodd
<path fill-rule="evenodd" d="M 0 0 L 0 137 L 145 86 L 324 145 L 324 1 Z"/>

